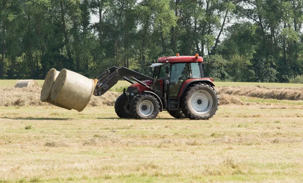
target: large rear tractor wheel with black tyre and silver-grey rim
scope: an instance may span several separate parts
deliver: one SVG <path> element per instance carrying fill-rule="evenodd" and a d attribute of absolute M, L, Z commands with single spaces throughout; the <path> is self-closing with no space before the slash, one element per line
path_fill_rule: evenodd
<path fill-rule="evenodd" d="M 206 83 L 197 83 L 188 87 L 182 97 L 182 111 L 191 120 L 212 118 L 219 106 L 216 90 Z"/>

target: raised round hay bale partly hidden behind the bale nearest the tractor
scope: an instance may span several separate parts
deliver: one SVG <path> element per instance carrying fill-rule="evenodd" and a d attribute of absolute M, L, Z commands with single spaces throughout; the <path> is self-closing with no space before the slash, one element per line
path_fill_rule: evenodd
<path fill-rule="evenodd" d="M 61 104 L 58 104 L 55 101 L 52 101 L 52 99 L 51 99 L 52 88 L 53 88 L 53 85 L 54 85 L 55 80 L 58 77 L 59 73 L 60 72 L 54 68 L 52 68 L 51 70 L 48 71 L 48 73 L 44 79 L 43 86 L 42 86 L 40 100 L 42 102 L 47 102 L 49 104 L 53 104 L 60 108 L 71 110 L 71 108 L 67 108 Z"/>

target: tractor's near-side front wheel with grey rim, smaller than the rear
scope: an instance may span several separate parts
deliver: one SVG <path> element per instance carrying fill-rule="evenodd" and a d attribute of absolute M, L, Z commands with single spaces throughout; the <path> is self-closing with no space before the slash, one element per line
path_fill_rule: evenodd
<path fill-rule="evenodd" d="M 138 95 L 130 104 L 131 115 L 135 119 L 155 119 L 159 114 L 159 102 L 151 95 Z"/>

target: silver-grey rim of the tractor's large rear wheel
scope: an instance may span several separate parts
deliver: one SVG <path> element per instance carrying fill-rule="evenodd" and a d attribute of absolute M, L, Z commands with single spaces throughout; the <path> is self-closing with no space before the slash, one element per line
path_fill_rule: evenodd
<path fill-rule="evenodd" d="M 198 90 L 190 99 L 191 108 L 198 114 L 206 114 L 213 106 L 213 98 L 205 90 Z"/>

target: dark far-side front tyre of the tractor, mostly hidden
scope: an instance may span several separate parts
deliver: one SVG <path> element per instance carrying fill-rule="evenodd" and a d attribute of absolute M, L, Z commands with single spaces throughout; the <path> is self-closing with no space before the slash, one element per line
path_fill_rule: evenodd
<path fill-rule="evenodd" d="M 115 103 L 115 112 L 119 118 L 131 118 L 129 103 L 124 101 L 123 94 L 119 96 Z"/>

